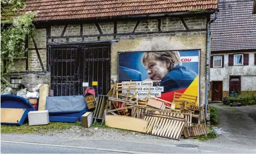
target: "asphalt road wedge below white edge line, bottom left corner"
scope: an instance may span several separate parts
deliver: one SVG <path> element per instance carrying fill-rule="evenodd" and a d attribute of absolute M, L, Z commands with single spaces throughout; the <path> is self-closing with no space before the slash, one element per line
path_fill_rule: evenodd
<path fill-rule="evenodd" d="M 78 148 L 65 148 L 65 147 L 47 146 L 47 145 L 31 145 L 31 144 L 1 142 L 1 153 L 117 153 L 117 152 L 78 149 Z"/>

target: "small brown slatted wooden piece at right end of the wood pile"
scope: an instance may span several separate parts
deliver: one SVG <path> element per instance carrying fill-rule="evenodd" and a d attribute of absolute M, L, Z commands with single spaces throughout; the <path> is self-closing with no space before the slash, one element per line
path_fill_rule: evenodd
<path fill-rule="evenodd" d="M 186 138 L 208 134 L 206 124 L 197 124 L 191 127 L 184 127 L 183 134 Z"/>

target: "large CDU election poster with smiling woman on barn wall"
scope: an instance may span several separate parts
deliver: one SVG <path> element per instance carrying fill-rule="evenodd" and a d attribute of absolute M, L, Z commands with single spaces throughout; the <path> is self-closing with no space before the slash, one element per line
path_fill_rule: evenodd
<path fill-rule="evenodd" d="M 119 53 L 118 82 L 137 81 L 137 98 L 147 96 L 149 85 L 150 96 L 170 102 L 175 92 L 198 96 L 199 61 L 199 50 Z"/>

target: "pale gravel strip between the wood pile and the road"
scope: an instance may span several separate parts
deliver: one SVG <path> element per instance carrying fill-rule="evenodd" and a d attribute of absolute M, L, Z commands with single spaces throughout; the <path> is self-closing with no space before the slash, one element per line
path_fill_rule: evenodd
<path fill-rule="evenodd" d="M 180 141 L 169 138 L 158 137 L 153 135 L 141 134 L 134 131 L 127 131 L 113 128 L 81 128 L 74 126 L 68 130 L 52 131 L 44 135 L 59 136 L 66 138 L 76 138 L 77 140 L 113 140 L 113 141 L 127 141 L 140 143 L 154 143 L 159 145 L 169 144 L 197 144 L 197 140 L 188 140 L 182 138 Z"/>

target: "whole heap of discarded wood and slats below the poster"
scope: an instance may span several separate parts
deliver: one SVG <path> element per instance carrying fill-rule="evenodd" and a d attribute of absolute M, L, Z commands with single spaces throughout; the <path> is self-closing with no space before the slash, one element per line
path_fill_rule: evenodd
<path fill-rule="evenodd" d="M 147 96 L 138 99 L 137 86 L 138 83 L 132 81 L 114 83 L 108 93 L 106 125 L 175 140 L 180 140 L 181 135 L 189 137 L 205 133 L 201 129 L 194 130 L 194 126 L 201 126 L 201 114 L 204 113 L 203 107 L 196 105 L 197 96 L 175 92 L 173 101 L 168 102 L 150 96 L 148 86 Z"/>

